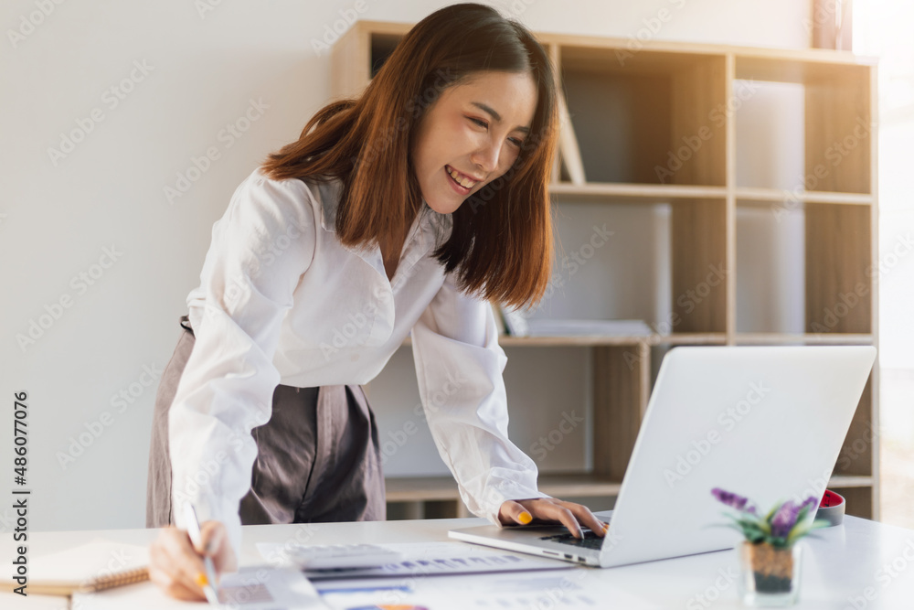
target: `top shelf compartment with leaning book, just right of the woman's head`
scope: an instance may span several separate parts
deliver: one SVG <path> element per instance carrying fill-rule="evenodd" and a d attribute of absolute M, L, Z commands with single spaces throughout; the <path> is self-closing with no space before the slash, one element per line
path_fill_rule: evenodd
<path fill-rule="evenodd" d="M 561 45 L 559 71 L 589 182 L 726 184 L 726 56 Z"/>

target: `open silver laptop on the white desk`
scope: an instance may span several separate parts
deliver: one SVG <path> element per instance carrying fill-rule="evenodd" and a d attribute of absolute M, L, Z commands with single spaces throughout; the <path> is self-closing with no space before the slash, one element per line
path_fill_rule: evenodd
<path fill-rule="evenodd" d="M 584 529 L 451 530 L 476 544 L 602 568 L 732 549 L 720 487 L 763 513 L 822 498 L 876 360 L 872 346 L 677 347 L 664 358 L 605 538 Z M 599 439 L 596 439 L 600 442 Z"/>

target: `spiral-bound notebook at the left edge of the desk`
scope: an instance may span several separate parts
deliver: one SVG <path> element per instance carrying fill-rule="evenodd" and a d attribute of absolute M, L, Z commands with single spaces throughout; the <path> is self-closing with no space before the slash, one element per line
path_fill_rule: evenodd
<path fill-rule="evenodd" d="M 4 565 L 16 559 L 16 547 L 5 550 Z M 27 594 L 69 595 L 111 589 L 149 579 L 149 550 L 102 538 L 78 547 L 42 554 L 36 545 L 27 544 Z M 21 587 L 11 579 L 16 565 L 3 574 L 0 591 L 14 592 Z"/>

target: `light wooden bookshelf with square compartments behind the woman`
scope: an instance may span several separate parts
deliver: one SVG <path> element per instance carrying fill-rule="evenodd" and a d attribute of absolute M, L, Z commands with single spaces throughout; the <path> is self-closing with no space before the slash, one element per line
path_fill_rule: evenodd
<path fill-rule="evenodd" d="M 361 91 L 411 26 L 356 22 L 333 50 L 333 95 Z M 877 344 L 877 274 L 871 273 L 877 263 L 876 63 L 824 49 L 653 40 L 632 52 L 622 38 L 537 37 L 557 67 L 567 111 L 562 129 L 572 130 L 563 133 L 553 162 L 553 205 L 661 206 L 670 216 L 670 310 L 680 319 L 673 334 L 499 341 L 511 348 L 590 351 L 593 370 L 600 371 L 590 388 L 590 432 L 602 441 L 594 444 L 593 471 L 544 474 L 540 487 L 559 497 L 612 497 L 651 392 L 656 349 Z M 787 190 L 739 183 L 739 109 L 730 112 L 728 103 L 751 81 L 802 88 L 803 170 L 814 185 Z M 848 145 L 834 166 L 830 147 L 840 142 Z M 803 260 L 796 261 L 804 272 L 803 303 L 797 304 L 804 311 L 802 332 L 739 331 L 738 214 L 788 203 L 804 227 Z M 709 265 L 726 270 L 723 284 L 686 311 L 675 295 L 700 283 Z M 854 305 L 841 305 L 852 292 Z M 841 315 L 834 316 L 836 308 Z M 637 366 L 623 366 L 626 352 L 638 357 L 628 360 Z M 830 481 L 847 498 L 849 514 L 872 519 L 879 516 L 878 435 L 871 433 L 878 430 L 877 375 L 876 368 L 845 439 L 842 455 L 853 459 L 839 459 Z M 388 501 L 409 505 L 414 516 L 466 514 L 450 477 L 389 478 Z"/>

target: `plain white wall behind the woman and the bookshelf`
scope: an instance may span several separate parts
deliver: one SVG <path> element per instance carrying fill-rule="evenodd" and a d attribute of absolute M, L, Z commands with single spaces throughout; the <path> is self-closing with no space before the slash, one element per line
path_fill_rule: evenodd
<path fill-rule="evenodd" d="M 204 3 L 215 6 L 201 13 Z M 361 16 L 414 22 L 444 4 L 366 0 Z M 535 31 L 634 37 L 665 8 L 672 18 L 657 38 L 808 46 L 802 26 L 808 3 L 795 0 L 591 0 L 574 10 L 552 0 L 496 5 Z M 232 191 L 264 155 L 294 140 L 329 95 L 328 59 L 312 43 L 340 11 L 355 6 L 340 0 L 7 0 L 0 6 L 0 370 L 7 413 L 0 493 L 8 498 L 12 487 L 14 392 L 27 391 L 32 530 L 143 527 L 155 393 L 154 383 L 143 386 L 150 379 L 143 371 L 162 369 L 171 357 L 212 223 Z M 118 91 L 122 99 L 112 97 Z M 255 119 L 242 124 L 247 131 L 227 138 L 223 130 L 245 123 L 246 112 Z M 62 134 L 74 131 L 85 135 L 52 158 L 49 149 L 60 149 Z M 209 147 L 218 159 L 182 197 L 166 200 L 165 187 L 175 187 L 176 174 Z M 115 251 L 113 262 L 106 249 Z M 91 284 L 80 273 L 90 274 Z M 55 306 L 61 302 L 69 306 Z M 46 313 L 42 336 L 20 348 L 16 336 L 27 336 Z M 569 408 L 586 409 L 590 373 L 583 352 L 566 351 L 509 351 L 509 388 L 523 385 L 529 371 L 545 375 L 550 356 L 569 362 L 545 396 L 509 395 L 517 401 L 511 402 L 513 433 L 524 448 L 537 430 L 531 423 L 554 427 L 543 413 L 557 396 Z M 396 404 L 411 409 L 415 401 L 392 400 L 390 392 L 384 398 L 384 385 L 413 383 L 413 376 L 409 352 L 401 350 L 373 384 L 386 430 L 402 415 Z M 132 402 L 115 406 L 122 391 Z M 110 425 L 96 424 L 104 412 Z M 58 456 L 90 429 L 97 433 L 89 433 L 91 444 L 61 465 Z M 420 462 L 416 455 L 435 455 L 423 443 L 410 449 L 413 463 Z M 582 463 L 584 449 L 569 443 L 550 457 L 552 466 Z M 392 472 L 406 470 L 406 455 L 392 461 Z M 427 462 L 442 471 L 437 459 Z M 0 503 L 0 530 L 15 527 L 10 504 Z"/>

